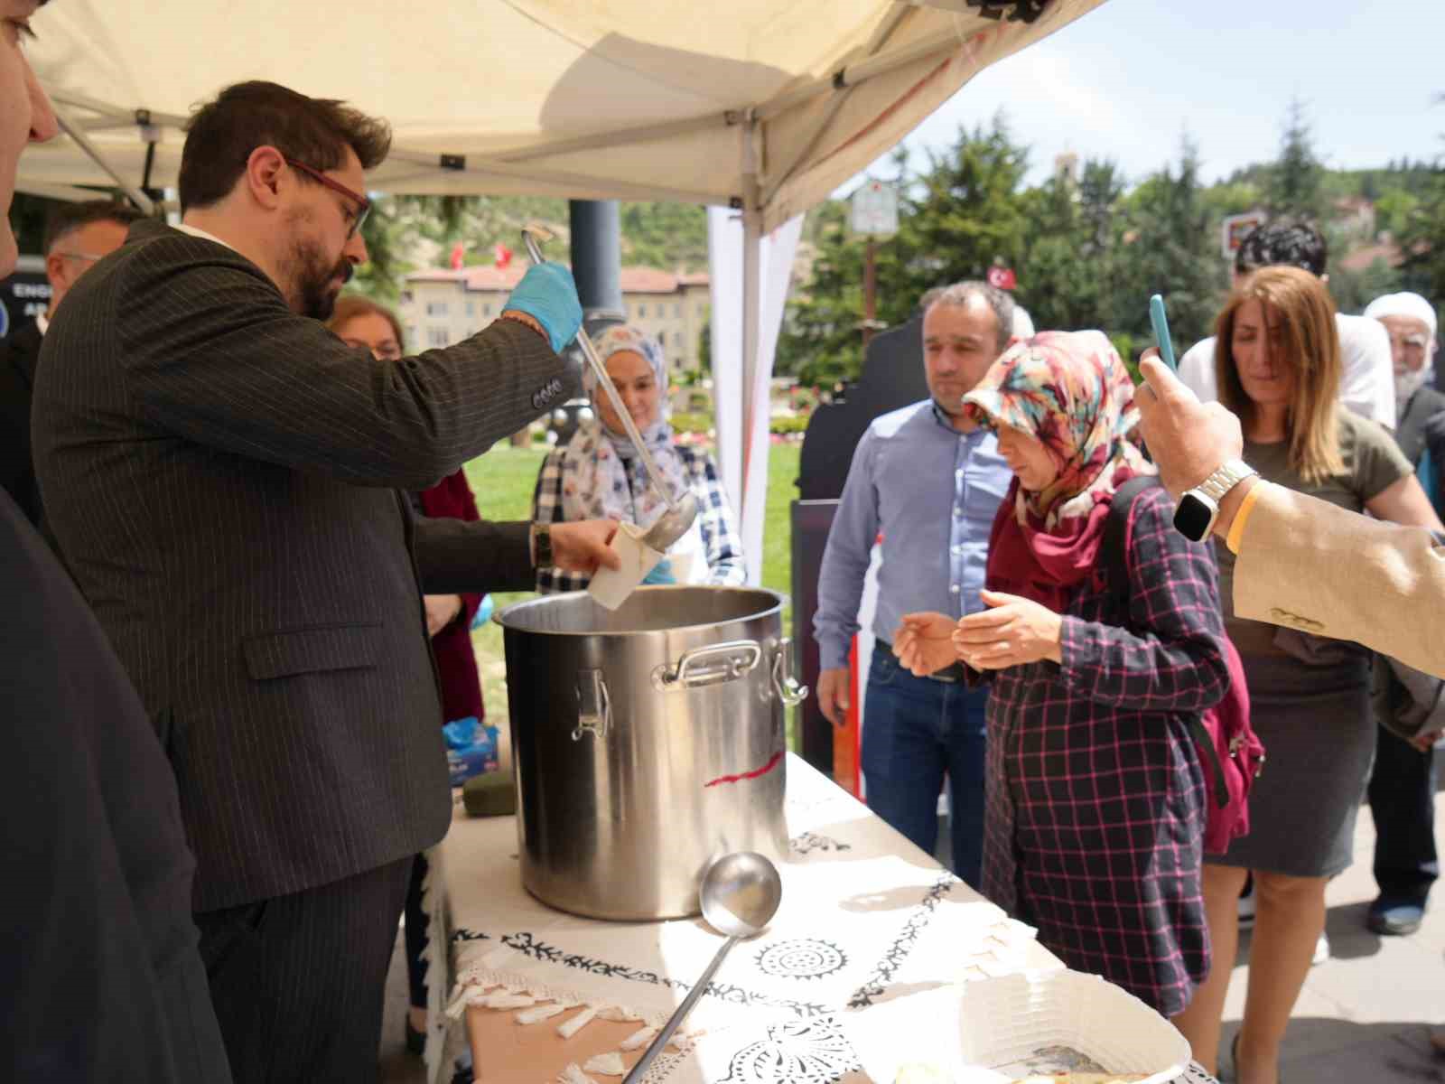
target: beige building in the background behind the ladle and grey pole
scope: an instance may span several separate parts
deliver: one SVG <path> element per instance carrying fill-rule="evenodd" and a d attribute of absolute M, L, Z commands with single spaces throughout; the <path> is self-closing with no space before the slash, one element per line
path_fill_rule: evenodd
<path fill-rule="evenodd" d="M 400 317 L 410 350 L 460 343 L 501 314 L 526 266 L 425 270 L 406 276 Z M 673 371 L 698 369 L 698 343 L 708 321 L 708 276 L 656 267 L 623 267 L 627 322 L 657 337 Z"/>

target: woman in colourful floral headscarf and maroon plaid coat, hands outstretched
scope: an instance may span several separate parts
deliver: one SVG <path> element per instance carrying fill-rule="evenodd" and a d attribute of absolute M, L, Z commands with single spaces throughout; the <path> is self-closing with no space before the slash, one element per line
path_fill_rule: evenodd
<path fill-rule="evenodd" d="M 1214 559 L 1153 486 L 1130 513 L 1127 594 L 1107 582 L 1110 502 L 1153 468 L 1129 439 L 1133 384 L 1101 332 L 1020 343 L 964 406 L 1014 471 L 990 538 L 990 608 L 957 626 L 909 614 L 894 650 L 915 672 L 957 658 L 993 676 L 985 895 L 1069 967 L 1173 1016 L 1209 967 L 1186 720 L 1228 685 Z"/>

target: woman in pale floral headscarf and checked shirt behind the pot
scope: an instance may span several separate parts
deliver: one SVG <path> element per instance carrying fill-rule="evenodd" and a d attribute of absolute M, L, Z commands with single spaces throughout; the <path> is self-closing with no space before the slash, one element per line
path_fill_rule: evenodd
<path fill-rule="evenodd" d="M 666 558 L 643 582 L 746 582 L 743 546 L 727 493 L 718 481 L 717 464 L 708 452 L 673 439 L 668 425 L 668 360 L 657 340 L 634 327 L 617 325 L 598 335 L 595 345 L 623 406 L 657 464 L 663 486 L 673 494 L 691 489 L 698 499 L 698 517 L 688 533 L 672 543 Z M 592 397 L 597 416 L 578 426 L 572 439 L 555 448 L 542 463 L 532 497 L 532 519 L 564 523 L 605 516 L 649 528 L 666 504 L 649 486 L 647 468 L 590 369 L 582 370 L 582 386 Z M 575 572 L 538 569 L 538 591 L 545 594 L 578 591 L 587 582 L 588 577 Z"/>

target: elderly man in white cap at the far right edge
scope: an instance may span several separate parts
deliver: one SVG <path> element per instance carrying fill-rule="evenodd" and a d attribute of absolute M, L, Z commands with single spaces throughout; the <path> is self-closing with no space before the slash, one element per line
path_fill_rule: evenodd
<path fill-rule="evenodd" d="M 1435 504 L 1445 506 L 1445 395 L 1433 384 L 1435 308 L 1419 293 L 1386 293 L 1364 311 L 1390 335 L 1394 360 L 1394 439 L 1415 464 Z M 1439 857 L 1435 851 L 1435 750 L 1422 752 L 1384 727 L 1376 736 L 1370 812 L 1374 815 L 1374 880 L 1380 896 L 1366 925 L 1402 937 L 1420 928 Z"/>

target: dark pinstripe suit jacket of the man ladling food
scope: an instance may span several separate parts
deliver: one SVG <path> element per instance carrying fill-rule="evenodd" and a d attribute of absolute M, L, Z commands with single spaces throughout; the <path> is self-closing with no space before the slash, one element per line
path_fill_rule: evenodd
<path fill-rule="evenodd" d="M 243 256 L 159 223 L 66 295 L 36 473 L 160 733 L 195 908 L 413 854 L 451 812 L 418 580 L 530 584 L 526 525 L 416 520 L 420 490 L 569 393 L 529 328 L 374 361 Z"/>

